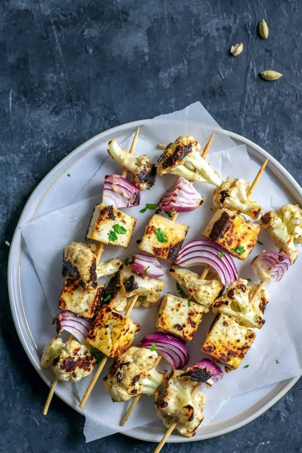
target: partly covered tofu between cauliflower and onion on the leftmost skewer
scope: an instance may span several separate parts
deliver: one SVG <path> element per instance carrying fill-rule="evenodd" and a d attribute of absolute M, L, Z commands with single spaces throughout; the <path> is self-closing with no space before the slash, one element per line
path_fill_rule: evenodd
<path fill-rule="evenodd" d="M 85 318 L 94 318 L 101 308 L 104 296 L 103 285 L 83 289 L 78 282 L 68 278 L 64 282 L 58 308 L 72 311 Z"/>

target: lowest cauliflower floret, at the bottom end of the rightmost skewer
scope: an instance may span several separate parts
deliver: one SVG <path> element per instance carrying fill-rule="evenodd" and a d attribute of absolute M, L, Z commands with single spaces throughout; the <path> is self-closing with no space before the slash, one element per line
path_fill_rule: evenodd
<path fill-rule="evenodd" d="M 177 419 L 177 431 L 182 436 L 192 437 L 204 418 L 202 410 L 206 398 L 200 391 L 192 398 L 191 392 L 199 382 L 181 377 L 182 373 L 175 370 L 168 374 L 155 392 L 155 408 L 167 428 Z"/>

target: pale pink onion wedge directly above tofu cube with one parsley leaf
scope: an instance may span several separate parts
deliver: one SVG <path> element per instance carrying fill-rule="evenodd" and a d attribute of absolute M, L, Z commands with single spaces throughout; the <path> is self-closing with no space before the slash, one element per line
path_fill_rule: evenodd
<path fill-rule="evenodd" d="M 168 212 L 194 211 L 204 202 L 200 193 L 185 178 L 178 178 L 158 202 L 158 207 Z"/>

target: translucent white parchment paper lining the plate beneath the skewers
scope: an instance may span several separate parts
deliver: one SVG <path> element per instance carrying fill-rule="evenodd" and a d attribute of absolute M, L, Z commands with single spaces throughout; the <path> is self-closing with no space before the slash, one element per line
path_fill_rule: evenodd
<path fill-rule="evenodd" d="M 251 183 L 259 170 L 260 163 L 249 156 L 245 146 L 234 147 L 234 142 L 221 133 L 214 120 L 212 123 L 202 123 L 201 117 L 203 116 L 205 116 L 203 107 L 200 104 L 193 104 L 193 106 L 188 107 L 184 111 L 160 116 L 149 121 L 141 129 L 140 139 L 135 152 L 137 154 L 149 154 L 151 160 L 155 162 L 160 154 L 160 150 L 156 148 L 157 143 L 168 143 L 175 140 L 178 135 L 190 134 L 200 141 L 201 146 L 204 146 L 212 131 L 216 130 L 211 151 L 207 157 L 208 162 L 213 169 L 220 173 L 224 180 L 227 176 L 231 178 L 241 177 Z M 209 115 L 207 114 L 207 120 L 209 120 L 208 117 Z M 129 142 L 131 142 L 130 139 L 128 140 L 128 148 Z M 126 148 L 127 143 L 123 146 Z M 221 151 L 221 149 L 223 150 Z M 81 201 L 51 212 L 21 228 L 53 315 L 58 312 L 58 298 L 63 284 L 62 250 L 69 241 L 84 240 L 92 209 L 96 203 L 101 202 L 104 176 L 113 172 L 120 173 L 120 169 L 109 158 L 94 178 L 85 186 L 86 188 L 89 187 L 89 194 L 96 196 L 87 199 L 85 197 L 87 192 L 82 191 L 77 197 Z M 115 256 L 124 259 L 139 251 L 136 240 L 141 239 L 144 226 L 154 213 L 154 211 L 147 210 L 147 212 L 142 214 L 139 210 L 144 207 L 146 202 L 158 202 L 163 192 L 172 184 L 175 178 L 173 175 L 157 178 L 156 184 L 151 190 L 142 192 L 140 207 L 123 209 L 124 212 L 137 218 L 137 226 L 130 245 L 127 250 L 116 246 L 105 246 L 102 260 Z M 205 198 L 205 202 L 198 210 L 180 214 L 177 219 L 177 221 L 185 222 L 189 225 L 186 242 L 201 237 L 201 233 L 212 215 L 211 207 L 214 187 L 210 184 L 201 183 L 195 183 L 195 187 Z M 262 204 L 265 211 L 293 201 L 286 190 L 273 178 L 269 169 L 260 179 L 254 190 L 253 197 Z M 164 212 L 162 212 L 162 215 L 165 215 Z M 261 231 L 259 239 L 264 243 L 264 246 L 256 245 L 249 260 L 245 262 L 235 260 L 239 275 L 243 278 L 251 278 L 255 283 L 257 283 L 257 279 L 250 267 L 251 260 L 263 248 L 276 250 L 273 242 L 264 231 Z M 162 294 L 167 291 L 177 294 L 175 280 L 168 275 L 168 262 L 161 260 L 161 265 L 166 271 L 163 277 L 165 288 Z M 195 268 L 195 270 L 201 272 L 202 268 Z M 267 286 L 270 301 L 265 312 L 266 323 L 264 328 L 256 330 L 257 337 L 253 347 L 248 352 L 240 368 L 225 375 L 224 379 L 212 389 L 204 389 L 207 403 L 206 417 L 203 424 L 209 423 L 220 409 L 221 404 L 231 396 L 297 376 L 302 372 L 301 311 L 294 310 L 295 318 L 294 322 L 292 322 L 292 308 L 297 308 L 300 301 L 300 270 L 301 265 L 298 258 L 295 265 L 292 266 L 280 283 Z M 101 283 L 105 283 L 105 281 L 101 280 Z M 155 331 L 156 314 L 156 307 L 135 308 L 132 311 L 131 317 L 141 324 L 141 331 L 135 344 L 147 333 Z M 187 347 L 190 352 L 189 365 L 196 363 L 203 357 L 200 348 L 212 319 L 213 315 L 211 313 L 204 315 L 196 336 L 192 342 L 188 343 Z M 43 331 L 44 324 L 45 330 L 46 325 L 48 325 L 47 332 L 49 332 L 49 323 L 51 323 L 50 319 L 43 318 L 42 326 L 37 327 L 39 332 Z M 53 336 L 55 336 L 55 329 L 53 329 Z M 51 337 L 49 337 L 50 339 Z M 276 360 L 280 363 L 276 363 Z M 249 367 L 243 368 L 247 364 Z M 110 361 L 108 361 L 108 366 L 101 377 L 105 376 L 109 366 Z M 163 363 L 163 366 L 166 369 L 168 368 L 166 363 Z M 90 380 L 91 377 L 88 377 L 76 384 L 80 397 L 84 394 Z M 84 432 L 86 440 L 101 438 L 117 431 L 128 430 L 156 420 L 153 398 L 143 395 L 126 426 L 120 427 L 120 419 L 129 404 L 129 402 L 113 404 L 109 395 L 103 390 L 101 378 L 85 406 L 86 425 Z"/>

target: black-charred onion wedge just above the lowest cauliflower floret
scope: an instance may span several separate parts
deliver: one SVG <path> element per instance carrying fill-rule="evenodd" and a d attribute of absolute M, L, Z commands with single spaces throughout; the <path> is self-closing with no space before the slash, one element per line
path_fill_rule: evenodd
<path fill-rule="evenodd" d="M 190 366 L 182 376 L 190 376 L 191 381 L 203 382 L 205 386 L 211 387 L 223 378 L 223 372 L 210 359 L 203 359 L 196 365 Z"/>

